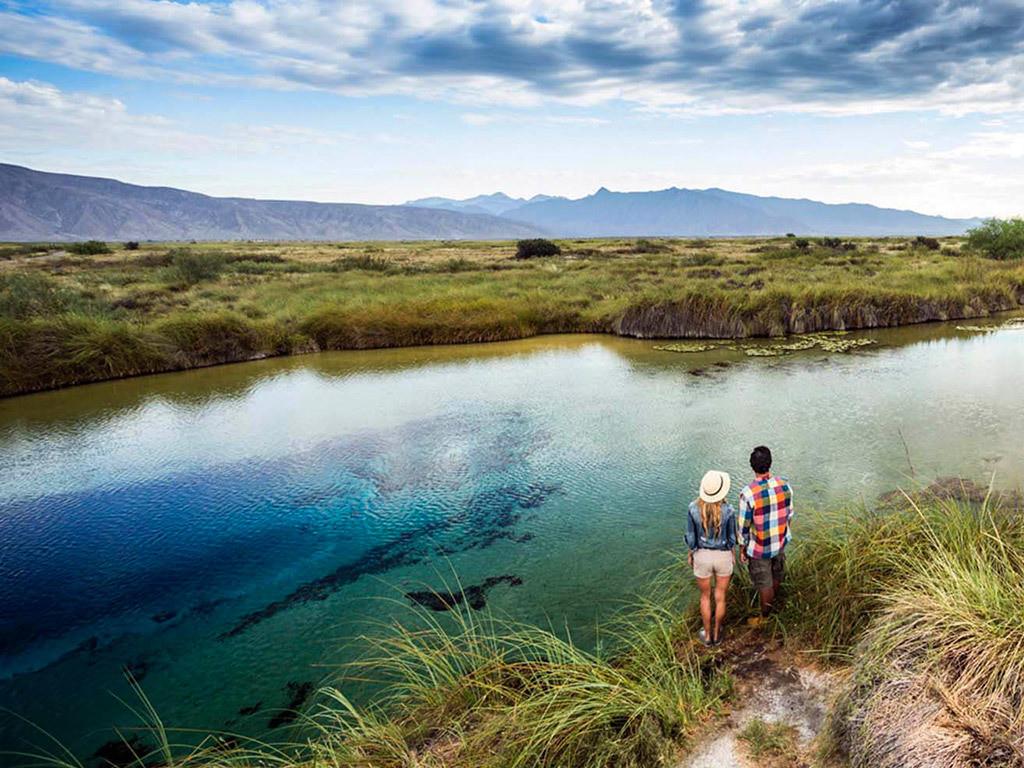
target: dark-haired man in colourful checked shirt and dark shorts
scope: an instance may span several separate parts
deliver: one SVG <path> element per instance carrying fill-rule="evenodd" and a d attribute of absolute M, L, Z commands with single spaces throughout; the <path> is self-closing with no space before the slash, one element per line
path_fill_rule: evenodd
<path fill-rule="evenodd" d="M 771 451 L 758 445 L 751 453 L 754 482 L 739 492 L 739 561 L 746 563 L 751 582 L 761 598 L 761 615 L 771 611 L 782 583 L 785 545 L 793 535 L 793 490 L 771 474 Z"/>

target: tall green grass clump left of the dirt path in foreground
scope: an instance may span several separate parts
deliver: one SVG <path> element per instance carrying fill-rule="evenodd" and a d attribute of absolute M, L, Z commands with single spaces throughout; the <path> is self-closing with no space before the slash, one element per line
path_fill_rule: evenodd
<path fill-rule="evenodd" d="M 680 613 L 645 605 L 585 650 L 535 627 L 474 617 L 368 638 L 359 670 L 389 695 L 369 711 L 337 690 L 312 718 L 314 754 L 372 766 L 648 766 L 728 693 Z M 359 673 L 361 674 L 361 672 Z M 340 705 L 340 706 L 339 706 Z"/>

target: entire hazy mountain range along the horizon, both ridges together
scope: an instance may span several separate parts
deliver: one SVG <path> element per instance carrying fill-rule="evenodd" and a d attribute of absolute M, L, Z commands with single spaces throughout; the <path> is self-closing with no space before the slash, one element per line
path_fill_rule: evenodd
<path fill-rule="evenodd" d="M 579 200 L 496 193 L 400 206 L 213 198 L 0 164 L 0 241 L 958 234 L 978 223 L 718 188 L 602 187 Z"/>

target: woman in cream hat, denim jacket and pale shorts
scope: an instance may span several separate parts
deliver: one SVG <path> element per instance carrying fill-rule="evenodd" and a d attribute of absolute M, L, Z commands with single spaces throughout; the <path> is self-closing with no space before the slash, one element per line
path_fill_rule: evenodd
<path fill-rule="evenodd" d="M 705 645 L 717 645 L 722 639 L 725 620 L 725 593 L 732 575 L 732 550 L 736 546 L 736 511 L 725 502 L 729 495 L 729 475 L 711 470 L 700 480 L 699 497 L 690 502 L 686 520 L 686 544 L 689 563 L 700 588 L 700 618 L 703 627 L 697 637 Z M 715 621 L 712 623 L 712 590 L 715 592 Z"/>

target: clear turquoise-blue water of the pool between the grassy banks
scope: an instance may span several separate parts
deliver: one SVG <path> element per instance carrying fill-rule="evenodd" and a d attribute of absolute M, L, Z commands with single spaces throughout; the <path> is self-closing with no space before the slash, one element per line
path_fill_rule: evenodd
<path fill-rule="evenodd" d="M 587 642 L 679 546 L 703 471 L 738 485 L 761 442 L 805 519 L 911 464 L 1024 483 L 1024 331 L 862 336 L 342 352 L 0 400 L 0 707 L 88 757 L 133 722 L 127 667 L 169 723 L 275 737 L 368 622 L 456 573 Z M 27 737 L 0 715 L 0 749 Z"/>

